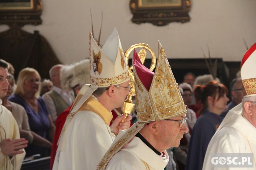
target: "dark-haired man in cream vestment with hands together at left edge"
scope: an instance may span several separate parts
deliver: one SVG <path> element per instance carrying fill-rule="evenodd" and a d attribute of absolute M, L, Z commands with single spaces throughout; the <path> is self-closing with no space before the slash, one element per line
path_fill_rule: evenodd
<path fill-rule="evenodd" d="M 0 98 L 8 89 L 8 63 L 0 59 Z M 25 157 L 28 141 L 19 136 L 19 127 L 12 113 L 2 105 L 0 99 L 0 169 L 19 170 Z"/>

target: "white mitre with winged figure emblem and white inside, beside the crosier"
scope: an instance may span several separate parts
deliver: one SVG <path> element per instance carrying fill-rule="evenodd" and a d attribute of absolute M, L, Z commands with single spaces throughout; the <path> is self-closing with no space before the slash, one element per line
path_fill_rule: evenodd
<path fill-rule="evenodd" d="M 90 75 L 91 86 L 95 87 L 117 85 L 130 79 L 116 28 L 102 49 L 90 33 Z"/>

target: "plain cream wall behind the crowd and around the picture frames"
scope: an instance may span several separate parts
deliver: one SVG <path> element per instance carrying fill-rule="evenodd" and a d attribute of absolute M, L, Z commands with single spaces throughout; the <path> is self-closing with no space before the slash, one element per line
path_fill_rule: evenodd
<path fill-rule="evenodd" d="M 192 0 L 188 23 L 170 23 L 158 27 L 150 23 L 134 24 L 128 0 L 42 0 L 42 25 L 24 26 L 38 30 L 52 45 L 64 64 L 80 61 L 89 55 L 91 31 L 98 35 L 103 11 L 101 44 L 116 27 L 125 51 L 137 43 L 149 44 L 157 53 L 159 40 L 169 58 L 203 58 L 207 55 L 224 61 L 241 61 L 246 47 L 256 42 L 256 0 Z M 8 29 L 1 25 L 0 31 Z"/>

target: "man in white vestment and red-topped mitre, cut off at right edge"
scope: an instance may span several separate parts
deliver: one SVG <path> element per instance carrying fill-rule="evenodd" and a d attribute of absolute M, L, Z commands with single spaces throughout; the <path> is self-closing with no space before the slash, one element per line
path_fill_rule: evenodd
<path fill-rule="evenodd" d="M 212 137 L 203 163 L 205 170 L 256 170 L 256 43 L 245 53 L 241 62 L 241 78 L 243 81 L 244 99 L 242 103 L 228 112 L 219 129 Z M 213 167 L 212 154 L 253 154 L 248 160 L 252 167 Z M 225 156 L 225 155 L 223 155 Z M 232 155 L 229 155 L 232 156 Z M 225 158 L 226 159 L 226 158 Z M 247 158 L 246 158 L 247 159 Z M 238 162 L 239 163 L 239 162 Z"/>

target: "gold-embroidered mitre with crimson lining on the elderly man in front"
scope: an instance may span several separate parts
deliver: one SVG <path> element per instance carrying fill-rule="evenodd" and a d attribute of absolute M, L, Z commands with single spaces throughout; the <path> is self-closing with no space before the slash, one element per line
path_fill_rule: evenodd
<path fill-rule="evenodd" d="M 137 55 L 138 56 L 138 55 Z M 173 76 L 165 51 L 158 41 L 158 60 L 155 74 L 133 58 L 136 109 L 138 122 L 151 122 L 186 113 L 179 87 Z M 147 77 L 147 75 L 151 75 Z M 153 78 L 150 78 L 152 77 Z"/>

